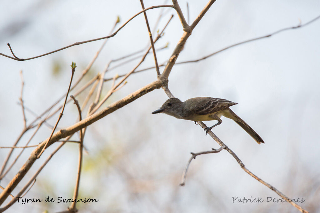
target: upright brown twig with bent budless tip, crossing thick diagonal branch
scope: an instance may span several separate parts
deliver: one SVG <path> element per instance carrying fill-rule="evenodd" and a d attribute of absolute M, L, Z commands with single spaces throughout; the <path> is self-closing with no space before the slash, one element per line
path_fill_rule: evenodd
<path fill-rule="evenodd" d="M 81 116 L 80 105 L 79 105 L 78 101 L 76 100 L 76 98 L 74 96 L 71 95 L 71 98 L 74 100 L 74 104 L 76 104 L 76 106 L 77 106 L 77 109 L 78 109 L 78 112 L 79 112 L 79 121 L 81 121 L 82 120 L 82 116 Z M 80 129 L 79 132 L 80 132 L 80 144 L 79 144 L 78 172 L 77 172 L 76 186 L 75 186 L 75 190 L 74 190 L 73 198 L 72 198 L 72 200 L 74 200 L 74 201 L 76 200 L 76 197 L 78 196 L 78 191 L 79 191 L 80 174 L 81 174 L 81 166 L 82 166 L 82 154 L 83 154 L 83 134 L 82 134 L 82 130 Z M 71 210 L 72 212 L 77 212 L 76 202 L 72 202 L 68 209 Z"/>

